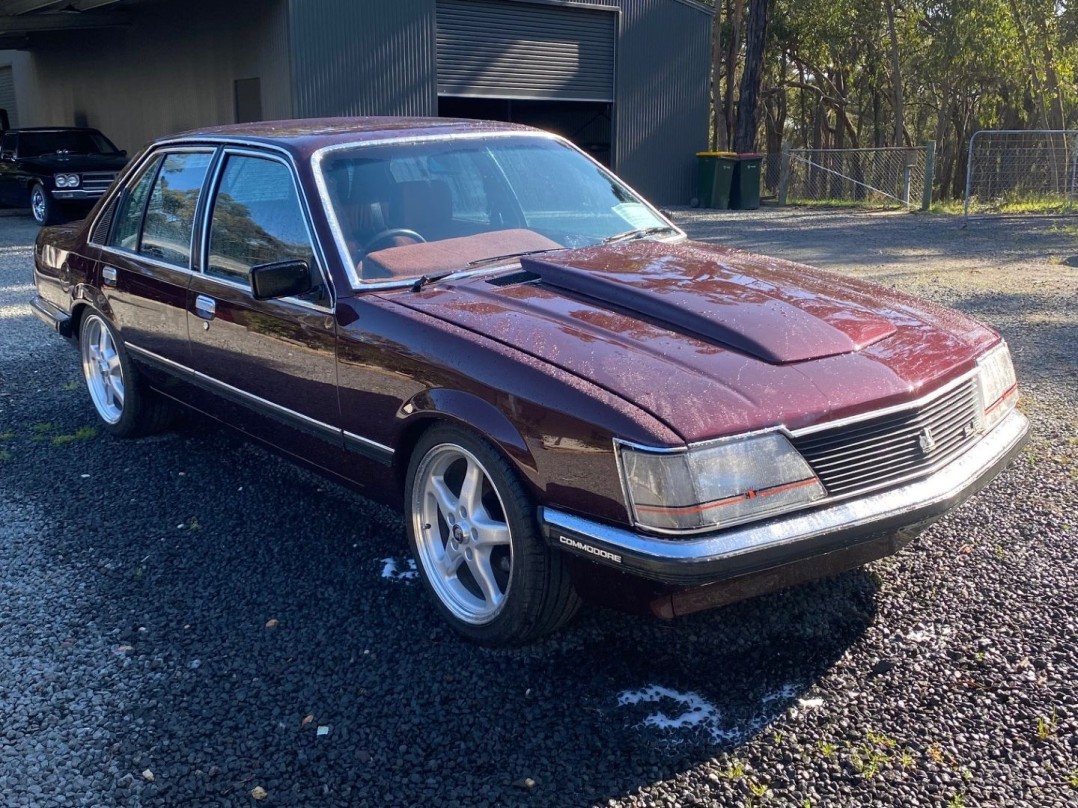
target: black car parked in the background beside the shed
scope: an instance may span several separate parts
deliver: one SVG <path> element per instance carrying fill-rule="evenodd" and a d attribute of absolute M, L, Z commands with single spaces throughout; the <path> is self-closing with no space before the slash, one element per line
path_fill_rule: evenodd
<path fill-rule="evenodd" d="M 127 163 L 97 129 L 37 127 L 0 136 L 0 205 L 29 206 L 38 224 L 85 215 Z"/>

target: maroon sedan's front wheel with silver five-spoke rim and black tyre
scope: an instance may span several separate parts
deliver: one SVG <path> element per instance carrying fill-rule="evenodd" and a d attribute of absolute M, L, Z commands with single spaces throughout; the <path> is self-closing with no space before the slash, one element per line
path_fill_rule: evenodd
<path fill-rule="evenodd" d="M 428 430 L 409 464 L 407 531 L 427 590 L 450 624 L 483 645 L 514 645 L 567 623 L 580 605 L 561 554 L 539 535 L 535 503 L 488 443 Z"/>

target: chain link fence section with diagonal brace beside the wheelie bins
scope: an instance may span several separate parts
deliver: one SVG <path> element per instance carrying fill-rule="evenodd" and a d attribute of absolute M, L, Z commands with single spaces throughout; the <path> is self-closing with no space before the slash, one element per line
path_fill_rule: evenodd
<path fill-rule="evenodd" d="M 779 205 L 916 207 L 926 201 L 935 143 L 880 149 L 790 149 L 783 152 Z"/>

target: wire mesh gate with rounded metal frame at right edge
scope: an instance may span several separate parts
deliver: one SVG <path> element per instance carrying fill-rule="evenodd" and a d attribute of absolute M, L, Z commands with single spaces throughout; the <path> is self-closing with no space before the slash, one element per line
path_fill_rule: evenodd
<path fill-rule="evenodd" d="M 1078 130 L 984 129 L 969 139 L 965 214 L 1078 210 Z"/>

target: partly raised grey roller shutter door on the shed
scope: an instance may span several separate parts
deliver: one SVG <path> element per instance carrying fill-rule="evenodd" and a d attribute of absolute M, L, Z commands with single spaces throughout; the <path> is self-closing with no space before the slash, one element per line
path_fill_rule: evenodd
<path fill-rule="evenodd" d="M 612 101 L 617 24 L 612 10 L 438 0 L 438 94 Z"/>

